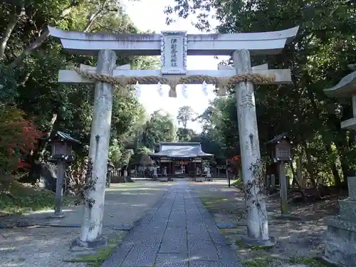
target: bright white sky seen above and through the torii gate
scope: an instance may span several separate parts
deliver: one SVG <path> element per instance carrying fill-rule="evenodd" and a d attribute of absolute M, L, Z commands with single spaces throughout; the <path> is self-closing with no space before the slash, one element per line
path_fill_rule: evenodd
<path fill-rule="evenodd" d="M 125 13 L 130 16 L 132 22 L 142 31 L 187 31 L 187 33 L 201 33 L 192 26 L 192 19 L 177 18 L 174 23 L 167 26 L 166 15 L 163 13 L 164 7 L 172 4 L 172 0 L 123 0 Z M 216 21 L 210 21 L 211 25 L 216 25 Z M 214 56 L 188 56 L 187 69 L 189 70 L 216 70 L 221 60 L 214 59 Z M 174 117 L 177 123 L 177 111 L 184 105 L 191 106 L 195 112 L 201 114 L 209 105 L 209 100 L 215 98 L 212 93 L 213 86 L 208 86 L 208 95 L 204 95 L 201 85 L 187 85 L 187 98 L 182 95 L 182 85 L 177 86 L 177 98 L 169 98 L 168 85 L 164 85 L 162 90 L 164 95 L 159 96 L 157 85 L 141 85 L 140 103 L 145 106 L 146 112 L 151 114 L 155 110 L 165 110 Z M 196 132 L 201 132 L 199 122 L 190 122 L 188 127 Z"/>

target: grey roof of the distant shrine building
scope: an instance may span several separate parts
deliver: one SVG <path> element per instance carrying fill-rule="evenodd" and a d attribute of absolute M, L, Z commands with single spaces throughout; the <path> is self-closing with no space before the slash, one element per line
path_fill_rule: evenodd
<path fill-rule="evenodd" d="M 199 142 L 161 142 L 159 152 L 150 155 L 151 157 L 211 157 L 212 154 L 201 150 Z"/>

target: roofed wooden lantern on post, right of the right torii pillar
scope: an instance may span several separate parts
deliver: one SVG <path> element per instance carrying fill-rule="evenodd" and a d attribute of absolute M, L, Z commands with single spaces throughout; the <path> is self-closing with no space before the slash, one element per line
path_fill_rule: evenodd
<path fill-rule="evenodd" d="M 273 162 L 278 163 L 279 176 L 279 192 L 281 194 L 281 214 L 288 214 L 288 195 L 287 195 L 287 177 L 286 177 L 286 162 L 292 160 L 291 145 L 286 134 L 278 135 L 273 140 L 267 142 L 271 150 L 271 157 Z"/>

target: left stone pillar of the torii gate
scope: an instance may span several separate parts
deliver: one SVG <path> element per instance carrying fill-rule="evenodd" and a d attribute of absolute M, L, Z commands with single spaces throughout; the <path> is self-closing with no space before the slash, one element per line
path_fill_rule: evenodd
<path fill-rule="evenodd" d="M 98 54 L 96 72 L 112 75 L 116 67 L 116 53 L 102 50 Z M 83 224 L 79 239 L 75 239 L 72 248 L 92 248 L 108 243 L 102 235 L 105 201 L 106 175 L 108 172 L 108 153 L 112 115 L 112 85 L 95 83 L 93 120 L 90 130 L 89 160 L 92 164 L 92 176 L 85 191 Z"/>

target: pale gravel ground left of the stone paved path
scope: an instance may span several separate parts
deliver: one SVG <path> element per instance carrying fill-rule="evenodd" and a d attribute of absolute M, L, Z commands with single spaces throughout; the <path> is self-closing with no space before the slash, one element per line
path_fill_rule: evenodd
<path fill-rule="evenodd" d="M 115 225 L 130 225 L 140 219 L 162 197 L 172 183 L 137 181 L 133 184 L 112 184 L 105 195 L 103 234 L 123 235 Z M 66 218 L 52 220 L 63 226 L 80 224 L 82 206 L 63 209 Z M 52 214 L 44 213 L 43 216 Z M 36 214 L 35 214 L 36 215 Z M 28 214 L 31 218 L 33 214 Z M 42 216 L 42 217 L 43 217 Z M 36 216 L 34 216 L 37 218 Z M 0 218 L 1 221 L 1 218 Z M 33 220 L 31 220 L 33 221 Z M 39 221 L 42 223 L 43 220 Z M 47 221 L 48 222 L 48 221 Z M 0 229 L 1 267 L 84 267 L 86 263 L 68 263 L 73 258 L 69 246 L 79 236 L 78 227 L 28 226 Z"/>

